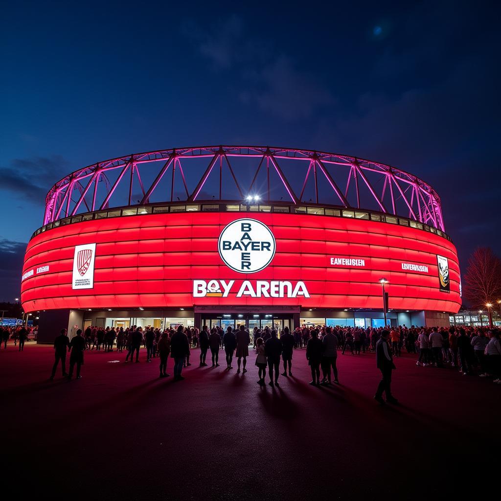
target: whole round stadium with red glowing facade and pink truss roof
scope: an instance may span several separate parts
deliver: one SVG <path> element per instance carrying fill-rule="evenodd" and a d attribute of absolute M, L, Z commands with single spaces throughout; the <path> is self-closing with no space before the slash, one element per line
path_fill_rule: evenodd
<path fill-rule="evenodd" d="M 25 312 L 54 326 L 446 326 L 460 274 L 440 197 L 401 169 L 261 146 L 130 154 L 46 197 Z M 385 296 L 386 293 L 386 296 Z"/>

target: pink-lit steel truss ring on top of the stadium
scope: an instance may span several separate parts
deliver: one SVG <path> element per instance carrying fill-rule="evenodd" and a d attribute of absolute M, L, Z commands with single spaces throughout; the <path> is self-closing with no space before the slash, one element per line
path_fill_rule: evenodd
<path fill-rule="evenodd" d="M 185 173 L 188 180 L 196 178 L 190 159 L 208 158 L 209 163 L 203 175 L 199 178 L 193 190 L 188 189 Z M 231 162 L 230 162 L 231 159 Z M 244 165 L 238 165 L 242 159 L 247 159 Z M 255 174 L 252 182 L 243 183 L 237 179 L 237 174 L 248 172 L 249 160 L 255 161 Z M 254 160 L 252 160 L 254 159 Z M 293 174 L 289 178 L 284 173 L 284 163 L 290 164 L 295 160 Z M 161 167 L 153 181 L 143 185 L 140 168 L 151 168 L 154 162 Z M 150 198 L 159 189 L 159 184 L 165 173 L 171 169 L 172 183 L 170 187 L 170 201 L 174 195 L 174 178 L 176 170 L 181 175 L 186 202 L 203 202 L 222 200 L 222 170 L 223 163 L 227 165 L 234 181 L 236 192 L 240 200 L 256 189 L 258 174 L 264 166 L 267 176 L 266 201 L 274 200 L 270 197 L 270 176 L 272 175 L 285 188 L 288 203 L 292 204 L 329 204 L 341 208 L 375 209 L 388 215 L 405 216 L 437 229 L 445 231 L 440 197 L 427 183 L 401 169 L 390 167 L 378 162 L 361 158 L 325 153 L 320 151 L 272 148 L 263 146 L 201 146 L 190 148 L 176 148 L 169 150 L 150 151 L 98 162 L 80 170 L 72 172 L 58 181 L 46 197 L 44 225 L 68 216 L 94 210 L 106 210 L 112 207 L 126 207 L 146 205 Z M 234 165 L 232 165 L 234 164 Z M 114 182 L 110 182 L 109 175 L 115 171 Z M 212 172 L 219 171 L 219 197 L 203 199 L 203 191 L 207 179 Z M 143 172 L 143 171 L 141 171 Z M 144 174 L 144 172 L 143 172 Z M 151 174 L 151 172 L 150 172 Z M 215 174 L 212 174 L 214 176 Z M 312 180 L 313 178 L 313 180 Z M 142 198 L 134 203 L 133 183 L 137 179 Z M 146 179 L 146 178 L 145 178 Z M 302 182 L 302 189 L 297 192 L 291 181 Z M 309 202 L 305 199 L 306 188 L 313 183 L 313 196 Z M 319 183 L 320 181 L 320 183 Z M 99 184 L 101 182 L 101 184 Z M 121 190 L 117 190 L 117 187 Z M 275 185 L 274 185 L 275 186 Z M 127 189 L 125 189 L 127 188 Z M 319 195 L 319 188 L 322 195 Z M 327 189 L 328 188 L 328 189 Z M 327 189 L 327 194 L 326 193 Z M 121 203 L 115 203 L 118 193 L 121 193 Z M 112 195 L 113 203 L 110 205 Z M 168 201 L 165 190 L 160 193 L 161 200 Z M 127 196 L 128 195 L 128 196 Z M 157 193 L 158 198 L 158 193 Z M 178 197 L 176 197 L 178 198 Z M 282 199 L 282 198 L 281 198 Z M 361 200 L 363 200 L 361 202 Z M 225 200 L 227 201 L 227 200 Z M 282 203 L 284 203 L 282 201 Z"/>

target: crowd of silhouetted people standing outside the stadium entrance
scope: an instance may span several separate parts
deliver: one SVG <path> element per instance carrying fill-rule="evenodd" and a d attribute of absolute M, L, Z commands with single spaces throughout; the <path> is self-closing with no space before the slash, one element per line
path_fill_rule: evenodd
<path fill-rule="evenodd" d="M 28 338 L 25 328 L 0 328 L 0 338 L 4 348 L 9 338 L 19 343 L 23 351 L 24 342 Z M 330 385 L 332 381 L 339 384 L 336 360 L 338 354 L 359 356 L 368 352 L 376 353 L 376 364 L 381 370 L 382 380 L 378 386 L 375 399 L 384 403 L 382 394 L 386 393 L 387 402 L 396 402 L 391 394 L 391 371 L 394 368 L 393 357 L 400 357 L 403 350 L 418 356 L 416 365 L 421 367 L 443 367 L 445 364 L 460 371 L 463 375 L 477 374 L 480 377 L 492 377 L 496 384 L 501 384 L 501 342 L 499 331 L 490 328 L 425 328 L 404 326 L 383 328 L 306 326 L 295 329 L 292 333 L 288 327 L 281 332 L 265 327 L 248 331 L 244 325 L 236 330 L 228 327 L 226 331 L 220 326 L 212 329 L 203 326 L 184 327 L 160 330 L 151 326 L 142 328 L 114 329 L 89 326 L 85 332 L 77 331 L 70 341 L 66 329 L 63 329 L 54 342 L 55 363 L 51 379 L 55 377 L 59 363 L 63 375 L 73 377 L 76 366 L 76 377 L 80 378 L 84 351 L 116 350 L 126 352 L 124 362 L 139 363 L 141 346 L 146 348 L 146 362 L 159 359 L 159 377 L 168 377 L 169 358 L 174 360 L 174 380 L 184 379 L 182 370 L 191 365 L 192 348 L 200 348 L 199 366 L 207 366 L 207 355 L 210 352 L 212 367 L 219 367 L 219 352 L 224 350 L 225 370 L 233 369 L 233 358 L 236 358 L 237 374 L 247 372 L 249 347 L 256 352 L 255 364 L 258 367 L 258 384 L 279 386 L 279 375 L 292 376 L 292 360 L 295 350 L 304 351 L 311 369 L 311 385 Z M 66 373 L 66 355 L 70 351 L 70 369 Z M 282 369 L 281 369 L 282 363 Z"/>

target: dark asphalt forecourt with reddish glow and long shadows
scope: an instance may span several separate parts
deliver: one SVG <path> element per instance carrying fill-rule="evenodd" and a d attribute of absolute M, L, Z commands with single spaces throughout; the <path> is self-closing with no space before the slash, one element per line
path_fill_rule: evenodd
<path fill-rule="evenodd" d="M 481 499 L 498 491 L 501 385 L 395 360 L 398 405 L 373 400 L 374 354 L 338 356 L 340 385 L 310 386 L 305 350 L 280 387 L 158 358 L 86 352 L 82 379 L 54 352 L 0 351 L 5 499 Z M 69 359 L 69 357 L 68 357 Z M 69 360 L 68 360 L 69 361 Z M 116 362 L 118 361 L 118 362 Z M 209 361 L 210 362 L 210 361 Z M 67 362 L 68 364 L 68 362 Z M 68 365 L 67 365 L 68 366 Z M 168 372 L 172 374 L 173 360 Z M 10 487 L 9 487 L 10 486 Z M 7 489 L 7 490 L 5 490 Z M 496 494 L 497 495 L 497 494 Z"/>

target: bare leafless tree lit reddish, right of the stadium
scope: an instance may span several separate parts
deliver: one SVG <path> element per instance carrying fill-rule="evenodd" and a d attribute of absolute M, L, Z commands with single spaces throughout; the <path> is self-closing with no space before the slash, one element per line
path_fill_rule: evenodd
<path fill-rule="evenodd" d="M 477 247 L 470 256 L 464 274 L 464 296 L 480 309 L 501 299 L 501 260 L 489 247 Z M 487 307 L 487 312 L 492 327 L 491 308 Z"/>

